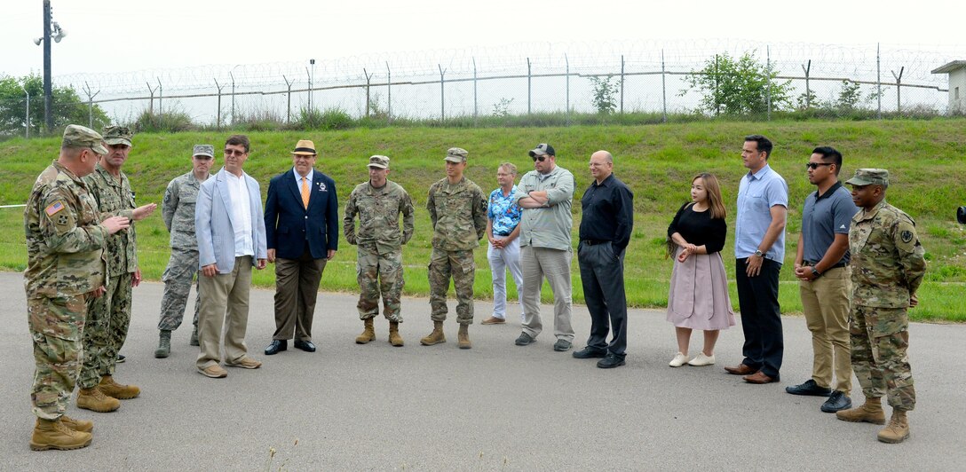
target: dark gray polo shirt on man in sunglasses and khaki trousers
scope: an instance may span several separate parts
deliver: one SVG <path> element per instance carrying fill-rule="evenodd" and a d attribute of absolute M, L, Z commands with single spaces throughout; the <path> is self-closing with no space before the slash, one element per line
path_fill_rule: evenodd
<path fill-rule="evenodd" d="M 805 261 L 817 263 L 825 257 L 836 235 L 848 235 L 852 216 L 859 208 L 852 202 L 852 194 L 836 182 L 822 195 L 811 192 L 802 209 L 802 253 Z M 837 263 L 848 263 L 849 253 Z"/>

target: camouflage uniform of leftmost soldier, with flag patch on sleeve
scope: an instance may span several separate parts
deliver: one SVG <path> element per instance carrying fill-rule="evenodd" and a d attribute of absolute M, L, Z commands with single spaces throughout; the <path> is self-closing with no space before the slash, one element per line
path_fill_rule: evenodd
<path fill-rule="evenodd" d="M 84 182 L 56 161 L 37 178 L 23 212 L 27 321 L 37 364 L 30 400 L 46 420 L 64 414 L 80 372 L 85 293 L 104 280 L 108 233 L 99 221 Z"/>

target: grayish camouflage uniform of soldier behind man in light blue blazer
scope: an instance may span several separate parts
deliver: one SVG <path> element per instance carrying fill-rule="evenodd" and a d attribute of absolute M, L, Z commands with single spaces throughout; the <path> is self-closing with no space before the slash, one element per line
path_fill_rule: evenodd
<path fill-rule="evenodd" d="M 171 259 L 164 268 L 161 282 L 164 294 L 161 295 L 161 316 L 157 321 L 160 331 L 174 331 L 181 326 L 185 317 L 187 295 L 191 292 L 191 281 L 198 273 L 198 239 L 194 235 L 194 204 L 198 200 L 201 181 L 194 172 L 178 176 L 168 183 L 164 190 L 164 203 L 161 216 L 164 226 L 171 234 Z M 198 309 L 201 307 L 201 292 L 195 282 L 194 320 L 198 326 Z"/>

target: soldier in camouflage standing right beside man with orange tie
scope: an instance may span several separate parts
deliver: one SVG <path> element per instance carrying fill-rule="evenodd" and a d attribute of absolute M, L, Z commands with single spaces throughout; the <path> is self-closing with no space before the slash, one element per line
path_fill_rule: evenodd
<path fill-rule="evenodd" d="M 399 335 L 400 296 L 403 279 L 403 244 L 412 237 L 412 199 L 401 185 L 386 180 L 389 158 L 369 157 L 369 181 L 355 186 L 346 204 L 342 231 L 346 240 L 356 246 L 355 274 L 359 283 L 359 319 L 365 325 L 355 343 L 364 345 L 376 339 L 373 318 L 379 315 L 379 297 L 383 295 L 383 315 L 389 320 L 389 343 L 403 346 Z M 355 215 L 359 228 L 355 230 Z M 399 231 L 399 215 L 403 215 L 403 231 Z"/>

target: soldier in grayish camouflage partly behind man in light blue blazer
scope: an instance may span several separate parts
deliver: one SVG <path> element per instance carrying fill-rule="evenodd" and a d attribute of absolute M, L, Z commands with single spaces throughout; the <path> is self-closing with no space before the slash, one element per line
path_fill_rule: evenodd
<path fill-rule="evenodd" d="M 176 177 L 164 190 L 161 217 L 171 234 L 171 259 L 161 275 L 164 294 L 161 295 L 161 316 L 157 321 L 158 335 L 155 357 L 167 357 L 171 353 L 171 332 L 181 326 L 185 317 L 187 295 L 191 281 L 198 273 L 198 239 L 194 236 L 194 203 L 198 200 L 201 182 L 211 177 L 214 163 L 214 147 L 196 144 L 191 153 L 191 171 Z M 191 330 L 191 346 L 198 346 L 198 309 L 201 292 L 195 282 L 194 329 Z"/>

